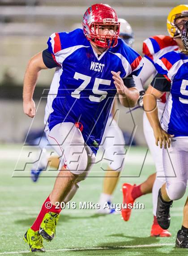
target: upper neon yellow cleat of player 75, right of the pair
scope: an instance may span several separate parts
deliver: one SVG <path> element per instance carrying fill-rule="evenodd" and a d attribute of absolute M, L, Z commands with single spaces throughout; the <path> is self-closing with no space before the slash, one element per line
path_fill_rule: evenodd
<path fill-rule="evenodd" d="M 60 215 L 54 212 L 47 212 L 40 225 L 39 233 L 47 241 L 51 241 L 56 234 L 56 225 Z"/>

